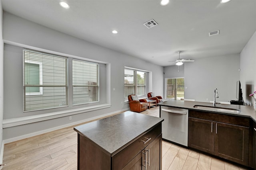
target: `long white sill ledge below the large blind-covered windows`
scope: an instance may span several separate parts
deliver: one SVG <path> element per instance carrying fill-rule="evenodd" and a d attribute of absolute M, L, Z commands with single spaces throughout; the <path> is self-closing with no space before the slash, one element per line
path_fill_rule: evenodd
<path fill-rule="evenodd" d="M 26 116 L 26 117 L 4 119 L 3 120 L 3 128 L 25 125 L 28 123 L 35 123 L 38 121 L 45 121 L 45 120 L 49 120 L 49 119 L 56 119 L 59 117 L 75 115 L 75 114 L 79 114 L 79 113 L 94 111 L 94 110 L 98 110 L 98 109 L 104 109 L 104 108 L 108 108 L 108 107 L 111 107 L 111 104 L 101 104 L 101 105 L 83 107 L 83 108 L 78 108 L 78 109 L 56 111 L 56 112 L 45 113 L 45 114 L 40 114 L 40 115 L 31 115 L 31 116 Z"/>

